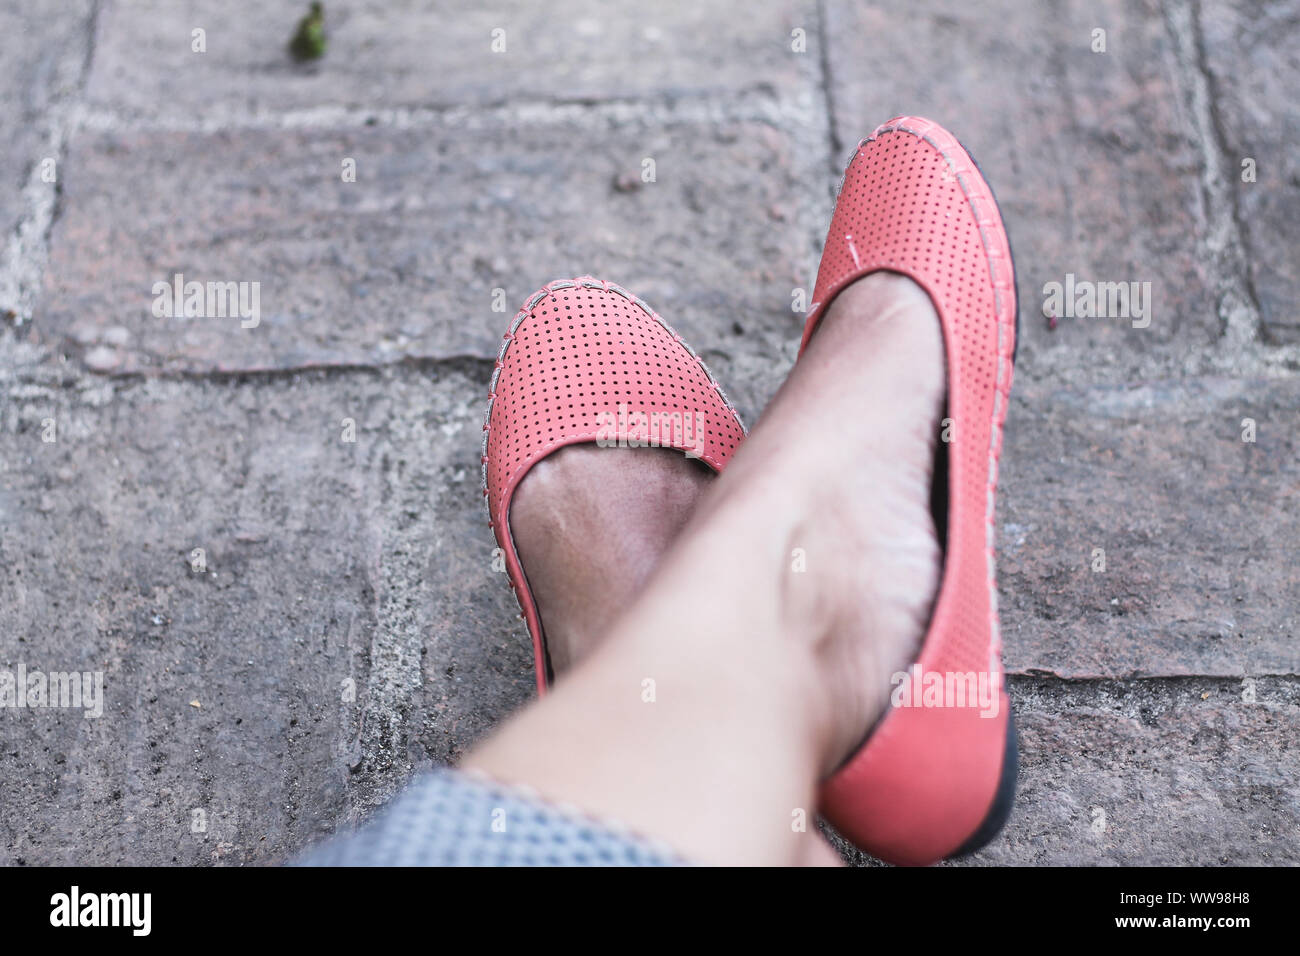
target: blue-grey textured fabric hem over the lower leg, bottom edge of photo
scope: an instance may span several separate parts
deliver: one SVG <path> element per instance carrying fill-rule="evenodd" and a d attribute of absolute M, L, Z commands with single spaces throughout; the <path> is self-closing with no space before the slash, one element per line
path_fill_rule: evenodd
<path fill-rule="evenodd" d="M 676 866 L 666 847 L 455 770 L 417 778 L 302 866 Z"/>

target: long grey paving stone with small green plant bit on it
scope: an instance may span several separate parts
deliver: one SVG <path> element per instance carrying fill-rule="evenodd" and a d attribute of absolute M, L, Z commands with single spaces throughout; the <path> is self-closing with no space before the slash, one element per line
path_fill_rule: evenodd
<path fill-rule="evenodd" d="M 287 43 L 307 4 L 143 0 L 109 5 L 87 90 L 95 107 L 196 116 L 321 105 L 445 107 L 519 98 L 592 100 L 781 87 L 818 69 L 792 30 L 816 30 L 815 5 L 671 0 L 612 16 L 507 0 L 442 5 L 325 4 L 329 48 L 296 65 Z M 205 30 L 207 52 L 192 52 Z M 494 52 L 494 31 L 504 51 Z"/>

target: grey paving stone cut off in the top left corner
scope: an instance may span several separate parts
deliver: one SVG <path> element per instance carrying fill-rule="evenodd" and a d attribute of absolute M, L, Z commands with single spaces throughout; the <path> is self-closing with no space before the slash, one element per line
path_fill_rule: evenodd
<path fill-rule="evenodd" d="M 90 0 L 32 0 L 0 9 L 0 250 L 29 212 L 23 187 L 31 170 L 52 157 L 49 108 L 81 74 L 90 10 Z"/>

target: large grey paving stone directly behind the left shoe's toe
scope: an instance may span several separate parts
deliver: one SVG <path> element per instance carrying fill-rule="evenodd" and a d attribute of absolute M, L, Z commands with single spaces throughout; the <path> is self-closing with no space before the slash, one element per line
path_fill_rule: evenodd
<path fill-rule="evenodd" d="M 806 163 L 763 122 L 86 134 L 38 330 L 113 372 L 495 358 L 526 295 L 593 273 L 705 354 L 783 352 L 784 372 L 819 202 Z M 259 282 L 260 323 L 156 317 L 177 273 Z"/>

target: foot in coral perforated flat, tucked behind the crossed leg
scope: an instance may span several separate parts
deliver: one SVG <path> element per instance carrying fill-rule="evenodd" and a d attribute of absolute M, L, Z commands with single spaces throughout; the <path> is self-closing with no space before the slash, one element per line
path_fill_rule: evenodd
<path fill-rule="evenodd" d="M 722 472 L 744 434 L 699 356 L 627 289 L 578 276 L 528 297 L 488 386 L 481 458 L 540 693 L 592 650 L 686 520 L 707 476 L 684 455 Z"/>

